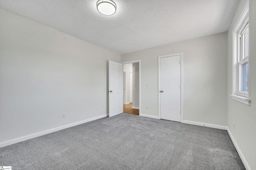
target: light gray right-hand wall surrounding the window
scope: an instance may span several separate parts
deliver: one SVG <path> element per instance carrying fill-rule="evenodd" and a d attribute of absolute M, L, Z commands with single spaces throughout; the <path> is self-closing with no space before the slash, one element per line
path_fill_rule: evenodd
<path fill-rule="evenodd" d="M 252 170 L 256 170 L 256 0 L 250 0 L 250 95 L 251 106 L 232 100 L 232 32 L 244 8 L 241 0 L 228 30 L 228 128 Z M 236 124 L 234 129 L 233 123 Z"/>

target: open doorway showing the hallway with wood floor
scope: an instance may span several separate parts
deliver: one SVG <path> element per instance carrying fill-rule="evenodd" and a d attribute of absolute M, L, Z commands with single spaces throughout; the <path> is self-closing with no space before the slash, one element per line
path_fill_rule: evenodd
<path fill-rule="evenodd" d="M 124 113 L 140 115 L 140 60 L 123 62 L 124 75 Z"/>

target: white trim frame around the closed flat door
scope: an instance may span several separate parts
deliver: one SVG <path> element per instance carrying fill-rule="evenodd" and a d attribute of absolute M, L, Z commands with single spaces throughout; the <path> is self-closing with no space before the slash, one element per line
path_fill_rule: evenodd
<path fill-rule="evenodd" d="M 158 119 L 160 119 L 160 59 L 180 55 L 180 122 L 183 123 L 183 53 L 158 56 Z"/>

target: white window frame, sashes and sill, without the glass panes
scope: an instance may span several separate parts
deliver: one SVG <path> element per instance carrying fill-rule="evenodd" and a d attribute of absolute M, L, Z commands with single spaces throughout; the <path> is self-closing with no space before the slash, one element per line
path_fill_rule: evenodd
<path fill-rule="evenodd" d="M 249 1 L 243 9 L 242 15 L 240 16 L 236 26 L 233 30 L 233 69 L 232 69 L 232 99 L 242 102 L 250 106 L 250 21 L 249 21 Z M 243 33 L 249 30 L 249 55 L 243 56 Z M 241 40 L 241 41 L 240 41 Z M 241 47 L 242 46 L 242 47 Z M 248 92 L 240 91 L 241 86 L 241 65 L 248 62 Z"/>

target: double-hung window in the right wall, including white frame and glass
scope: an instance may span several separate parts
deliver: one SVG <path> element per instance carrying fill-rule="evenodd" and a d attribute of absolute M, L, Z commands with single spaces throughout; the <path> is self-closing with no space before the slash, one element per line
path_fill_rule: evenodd
<path fill-rule="evenodd" d="M 233 92 L 232 98 L 250 105 L 249 5 L 233 31 Z"/>

